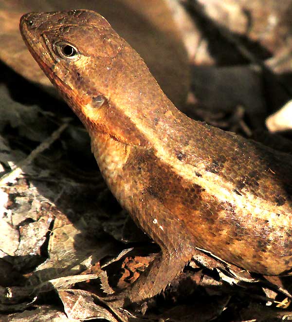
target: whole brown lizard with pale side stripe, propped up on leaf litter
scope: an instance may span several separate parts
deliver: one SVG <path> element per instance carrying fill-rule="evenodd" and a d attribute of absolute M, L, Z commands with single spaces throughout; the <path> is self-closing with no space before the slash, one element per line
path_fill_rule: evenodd
<path fill-rule="evenodd" d="M 26 14 L 20 31 L 90 134 L 110 190 L 161 247 L 117 305 L 159 293 L 197 247 L 256 273 L 291 270 L 290 155 L 181 113 L 93 11 Z"/>

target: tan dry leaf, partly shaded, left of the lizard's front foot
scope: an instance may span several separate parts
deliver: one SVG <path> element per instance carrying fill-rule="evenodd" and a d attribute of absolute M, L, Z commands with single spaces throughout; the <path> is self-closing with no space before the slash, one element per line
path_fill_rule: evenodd
<path fill-rule="evenodd" d="M 85 227 L 84 227 L 85 225 Z M 79 229 L 59 215 L 55 219 L 48 245 L 48 259 L 38 265 L 29 281 L 38 284 L 55 279 L 79 274 L 107 255 L 113 245 L 109 240 L 94 240 L 86 233 L 86 223 L 80 219 Z"/>

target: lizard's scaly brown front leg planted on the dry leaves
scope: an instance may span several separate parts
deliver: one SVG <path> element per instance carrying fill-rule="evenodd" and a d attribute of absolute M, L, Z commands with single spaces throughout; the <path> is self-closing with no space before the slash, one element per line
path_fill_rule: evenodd
<path fill-rule="evenodd" d="M 160 209 L 150 213 L 147 205 Z M 178 224 L 177 218 L 172 218 L 170 211 L 162 206 L 157 199 L 150 195 L 143 196 L 143 203 L 139 204 L 142 215 L 140 224 L 148 235 L 161 247 L 161 251 L 149 264 L 139 278 L 126 289 L 106 298 L 113 307 L 127 306 L 129 303 L 141 303 L 159 294 L 183 270 L 192 258 L 195 246 L 188 240 L 183 222 Z M 158 219 L 157 219 L 158 217 Z M 176 221 L 174 225 L 174 221 Z M 168 229 L 177 227 L 176 233 L 167 234 Z"/>

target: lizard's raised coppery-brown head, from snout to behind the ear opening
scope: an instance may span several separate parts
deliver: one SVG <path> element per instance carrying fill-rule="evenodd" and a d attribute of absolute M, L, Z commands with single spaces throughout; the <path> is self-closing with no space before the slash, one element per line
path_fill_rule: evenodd
<path fill-rule="evenodd" d="M 88 10 L 29 13 L 20 19 L 20 32 L 91 135 L 100 131 L 147 146 L 139 129 L 164 114 L 169 101 L 143 59 L 106 19 Z"/>

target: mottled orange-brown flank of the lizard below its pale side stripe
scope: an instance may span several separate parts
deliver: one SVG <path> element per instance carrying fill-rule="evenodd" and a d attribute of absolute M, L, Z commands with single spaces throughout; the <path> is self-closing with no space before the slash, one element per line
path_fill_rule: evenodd
<path fill-rule="evenodd" d="M 278 266 L 274 269 L 279 272 L 285 270 L 288 260 L 291 261 L 292 240 L 284 227 L 270 226 L 268 220 L 244 213 L 235 204 L 220 202 L 216 195 L 210 195 L 191 180 L 180 177 L 155 157 L 153 151 L 130 154 L 123 171 L 135 178 L 132 180 L 132 189 L 140 198 L 143 196 L 145 199 L 150 195 L 168 209 L 168 218 L 174 221 L 179 219 L 185 224 L 192 245 L 212 249 L 215 255 L 226 261 L 265 274 L 270 273 L 269 265 L 275 261 Z M 138 222 L 142 221 L 141 214 L 135 214 Z M 158 213 L 157 216 L 161 222 L 161 215 Z M 153 225 L 143 228 L 153 235 Z M 156 230 L 159 231 L 159 228 Z M 165 233 L 165 238 L 168 235 Z M 153 238 L 156 240 L 155 236 Z M 177 244 L 183 242 L 178 240 Z M 221 243 L 226 246 L 221 247 Z M 269 249 L 271 246 L 272 250 Z M 265 260 L 269 253 L 273 263 Z"/>

